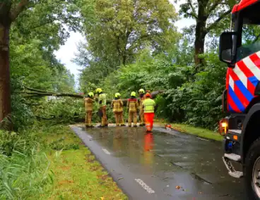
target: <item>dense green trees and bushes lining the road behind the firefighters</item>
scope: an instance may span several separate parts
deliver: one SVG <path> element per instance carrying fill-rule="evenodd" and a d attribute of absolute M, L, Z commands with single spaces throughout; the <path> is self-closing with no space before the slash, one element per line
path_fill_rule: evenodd
<path fill-rule="evenodd" d="M 2 123 L 13 116 L 18 129 L 18 124 L 26 126 L 30 121 L 27 119 L 34 119 L 33 113 L 43 118 L 63 117 L 61 113 L 66 113 L 65 110 L 71 111 L 65 115 L 71 119 L 83 116 L 79 99 L 71 100 L 76 103 L 70 109 L 69 104 L 68 108 L 61 106 L 63 99 L 59 104 L 49 104 L 42 93 L 25 92 L 25 87 L 75 92 L 73 75 L 57 61 L 54 51 L 64 44 L 70 30 L 77 30 L 85 36 L 73 59 L 83 66 L 79 80 L 82 92 L 102 87 L 112 99 L 118 91 L 128 97 L 131 90 L 140 87 L 162 89 L 165 94 L 157 99 L 160 117 L 214 128 L 223 115 L 220 96 L 226 70 L 218 61 L 218 37 L 230 27 L 230 9 L 235 3 L 231 0 L 187 0 L 182 4 L 168 0 L 3 1 L 0 4 L 4 61 L 0 66 Z M 180 6 L 179 13 L 176 4 Z M 178 31 L 175 22 L 180 18 L 193 18 L 195 25 Z M 249 28 L 247 38 L 250 40 L 258 32 Z M 48 112 L 46 108 L 53 109 Z"/>

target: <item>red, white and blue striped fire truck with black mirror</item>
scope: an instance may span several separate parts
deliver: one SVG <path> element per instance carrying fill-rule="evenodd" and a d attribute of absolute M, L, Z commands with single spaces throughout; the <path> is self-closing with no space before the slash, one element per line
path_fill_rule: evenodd
<path fill-rule="evenodd" d="M 223 162 L 232 177 L 244 179 L 248 198 L 260 199 L 260 0 L 242 0 L 232 8 L 219 58 L 228 64 L 223 92 L 228 116 L 220 121 Z"/>

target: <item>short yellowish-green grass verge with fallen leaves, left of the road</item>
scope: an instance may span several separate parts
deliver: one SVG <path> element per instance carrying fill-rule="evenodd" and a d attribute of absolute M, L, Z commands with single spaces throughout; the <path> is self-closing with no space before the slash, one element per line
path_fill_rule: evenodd
<path fill-rule="evenodd" d="M 32 199 L 127 199 L 69 127 L 52 131 L 42 138 L 49 149 L 54 185 L 47 185 L 42 195 Z M 62 147 L 66 150 L 57 151 Z"/>

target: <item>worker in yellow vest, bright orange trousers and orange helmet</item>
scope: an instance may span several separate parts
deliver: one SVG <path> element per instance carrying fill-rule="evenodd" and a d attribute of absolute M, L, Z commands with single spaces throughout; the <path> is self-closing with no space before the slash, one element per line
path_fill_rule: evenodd
<path fill-rule="evenodd" d="M 146 100 L 143 101 L 143 113 L 144 120 L 146 121 L 146 130 L 147 132 L 152 132 L 153 130 L 153 118 L 155 111 L 155 101 L 151 99 L 149 93 L 146 94 Z"/>

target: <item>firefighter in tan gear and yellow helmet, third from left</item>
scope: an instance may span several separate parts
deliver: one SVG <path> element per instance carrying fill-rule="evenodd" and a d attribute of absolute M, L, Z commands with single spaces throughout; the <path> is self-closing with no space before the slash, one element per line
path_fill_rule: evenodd
<path fill-rule="evenodd" d="M 114 99 L 112 100 L 112 108 L 114 112 L 114 118 L 116 118 L 116 125 L 125 126 L 124 125 L 124 117 L 123 117 L 123 101 L 120 99 L 121 94 L 116 93 L 114 94 Z"/>

